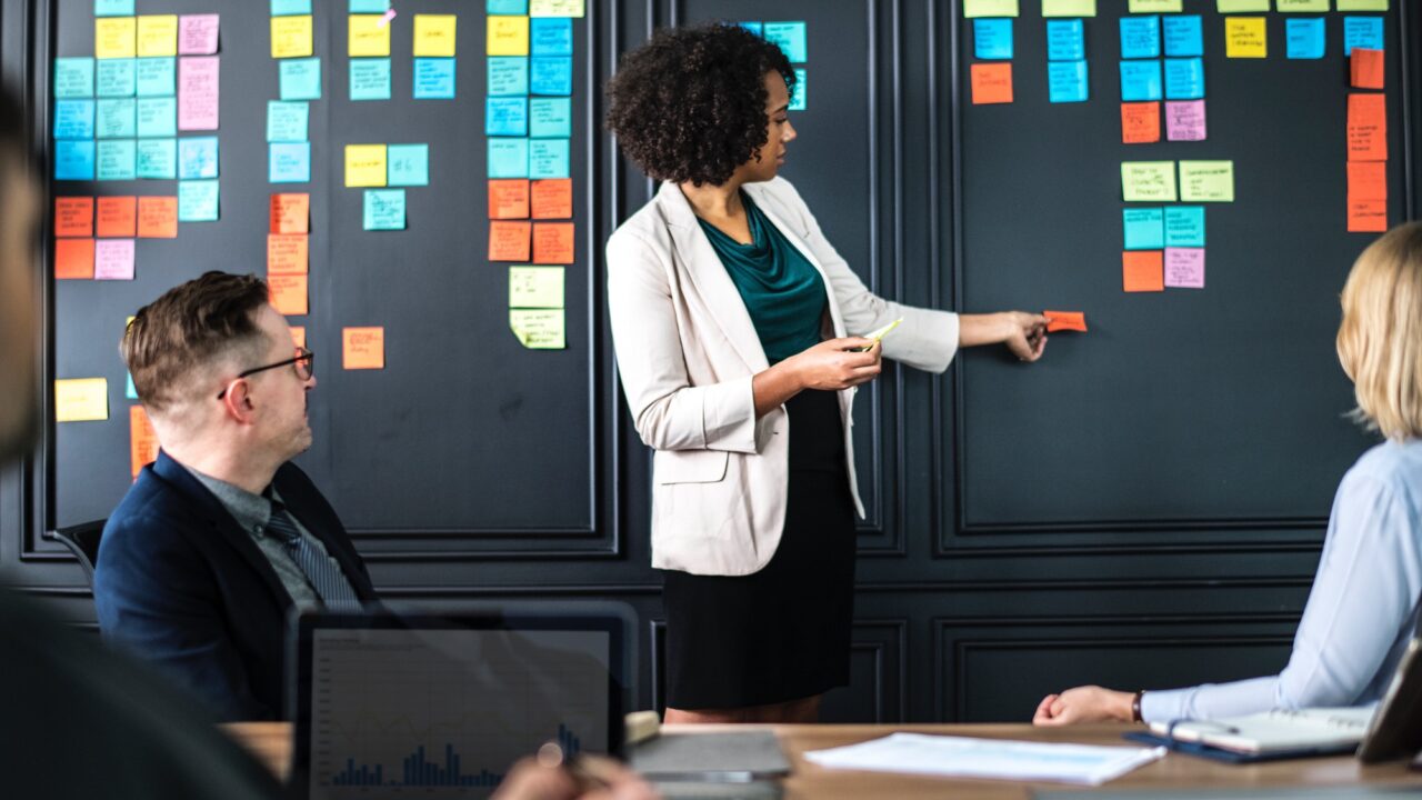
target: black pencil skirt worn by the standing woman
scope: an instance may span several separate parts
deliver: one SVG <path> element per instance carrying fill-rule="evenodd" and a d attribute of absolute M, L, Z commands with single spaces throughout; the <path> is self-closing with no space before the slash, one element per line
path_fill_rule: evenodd
<path fill-rule="evenodd" d="M 855 504 L 833 391 L 789 411 L 789 498 L 781 544 L 744 577 L 667 571 L 667 705 L 762 706 L 849 683 Z"/>

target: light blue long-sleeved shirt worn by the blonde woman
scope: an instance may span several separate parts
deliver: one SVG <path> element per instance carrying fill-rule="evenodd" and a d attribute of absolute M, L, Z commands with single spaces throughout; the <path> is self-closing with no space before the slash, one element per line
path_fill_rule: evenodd
<path fill-rule="evenodd" d="M 1362 454 L 1334 497 L 1294 652 L 1278 675 L 1146 692 L 1146 722 L 1362 706 L 1386 690 L 1422 596 L 1422 440 Z"/>

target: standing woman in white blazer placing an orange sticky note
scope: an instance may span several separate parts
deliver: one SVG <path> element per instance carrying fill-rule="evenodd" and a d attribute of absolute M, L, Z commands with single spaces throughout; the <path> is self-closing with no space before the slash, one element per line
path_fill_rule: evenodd
<path fill-rule="evenodd" d="M 627 404 L 653 460 L 667 722 L 813 722 L 849 682 L 850 404 L 880 356 L 1042 354 L 1045 319 L 870 293 L 776 178 L 795 71 L 735 24 L 658 31 L 607 85 L 607 127 L 657 196 L 607 242 Z M 823 165 L 833 168 L 833 165 Z M 903 323 L 882 344 L 860 335 Z"/>

